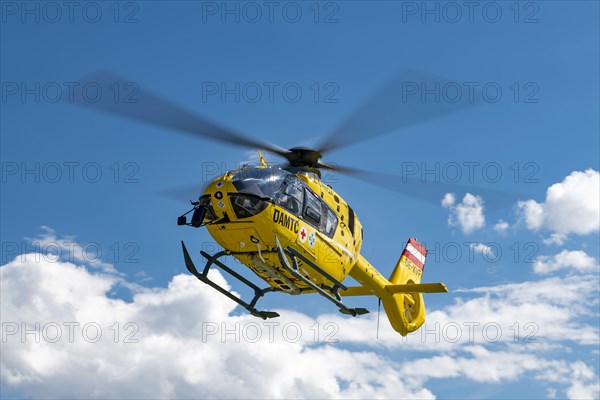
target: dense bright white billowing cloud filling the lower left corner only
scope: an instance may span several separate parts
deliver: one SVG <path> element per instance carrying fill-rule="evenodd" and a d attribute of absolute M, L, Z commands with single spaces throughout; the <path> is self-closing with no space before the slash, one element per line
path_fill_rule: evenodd
<path fill-rule="evenodd" d="M 324 344 L 324 330 L 315 343 L 309 317 L 273 321 L 271 341 L 272 325 L 232 315 L 233 302 L 191 275 L 141 289 L 128 303 L 109 297 L 121 278 L 35 254 L 0 274 L 1 376 L 26 396 L 433 397 L 374 352 Z M 218 272 L 211 278 L 227 287 Z"/>

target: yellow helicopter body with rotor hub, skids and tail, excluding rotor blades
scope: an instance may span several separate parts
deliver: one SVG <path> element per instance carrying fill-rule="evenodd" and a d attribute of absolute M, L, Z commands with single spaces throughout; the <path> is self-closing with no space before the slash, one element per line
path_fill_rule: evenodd
<path fill-rule="evenodd" d="M 199 272 L 182 241 L 188 270 L 263 319 L 279 316 L 256 308 L 268 292 L 316 292 L 352 316 L 368 311 L 347 307 L 343 296 L 375 295 L 396 331 L 405 336 L 417 330 L 425 322 L 422 293 L 447 292 L 442 283 L 420 283 L 427 250 L 409 239 L 386 279 L 360 254 L 363 228 L 353 209 L 321 181 L 318 162 L 307 162 L 320 155 L 298 147 L 290 153 L 295 165 L 281 169 L 267 165 L 259 151 L 258 167 L 228 171 L 208 184 L 188 212 L 193 212 L 189 224 L 186 215 L 179 217 L 179 225 L 205 226 L 225 249 L 214 255 L 201 251 L 207 261 Z M 269 286 L 261 289 L 220 262 L 225 255 L 233 255 Z M 208 279 L 213 265 L 253 289 L 254 298 L 245 302 Z M 346 287 L 347 276 L 361 286 Z"/>

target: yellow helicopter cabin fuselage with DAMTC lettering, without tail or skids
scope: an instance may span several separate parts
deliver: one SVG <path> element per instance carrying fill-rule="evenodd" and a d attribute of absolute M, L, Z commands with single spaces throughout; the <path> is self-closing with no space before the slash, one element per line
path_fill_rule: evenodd
<path fill-rule="evenodd" d="M 276 167 L 243 168 L 213 180 L 200 197 L 214 240 L 271 287 L 290 294 L 312 291 L 281 265 L 277 240 L 293 247 L 337 281 L 356 264 L 362 226 L 352 208 L 315 173 Z M 318 286 L 333 282 L 299 263 Z"/>

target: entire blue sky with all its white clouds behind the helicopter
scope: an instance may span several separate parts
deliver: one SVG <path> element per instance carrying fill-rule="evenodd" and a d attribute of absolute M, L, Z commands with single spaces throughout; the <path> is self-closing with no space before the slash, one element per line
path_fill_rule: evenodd
<path fill-rule="evenodd" d="M 598 397 L 598 3 L 477 2 L 471 10 L 462 2 L 271 5 L 82 2 L 70 13 L 62 2 L 1 3 L 3 335 L 13 323 L 21 329 L 22 323 L 98 321 L 105 334 L 114 322 L 140 327 L 139 343 L 124 348 L 104 340 L 89 347 L 3 336 L 2 396 Z M 434 333 L 403 341 L 382 319 L 376 340 L 375 299 L 348 300 L 373 311 L 350 320 L 316 296 L 274 295 L 262 300 L 263 307 L 283 310 L 285 321 L 301 324 L 299 343 L 232 344 L 216 340 L 219 335 L 198 341 L 213 322 L 253 320 L 179 276 L 186 272 L 180 240 L 196 253 L 214 247 L 206 231 L 176 226 L 188 209 L 185 198 L 159 193 L 196 183 L 191 195 L 197 195 L 215 170 L 255 160 L 253 152 L 69 104 L 69 85 L 79 90 L 90 84 L 89 74 L 113 71 L 287 148 L 318 144 L 403 68 L 463 89 L 472 85 L 476 95 L 493 100 L 347 146 L 325 161 L 393 175 L 438 168 L 440 176 L 429 179 L 442 183 L 458 165 L 460 183 L 474 184 L 472 196 L 448 190 L 455 195 L 443 204 L 443 196 L 428 203 L 343 175 L 326 178 L 355 209 L 365 230 L 362 253 L 384 275 L 408 237 L 431 250 L 424 279 L 451 290 L 426 298 Z M 296 99 L 291 93 L 297 88 Z M 501 92 L 494 97 L 484 88 Z M 118 93 L 120 101 L 130 93 L 115 90 L 103 95 Z M 450 101 L 448 93 L 440 91 L 439 101 Z M 434 101 L 425 96 L 424 104 Z M 483 189 L 517 196 L 489 209 L 493 199 Z M 56 243 L 62 257 L 50 260 Z M 31 255 L 36 252 L 46 257 Z M 35 299 L 59 305 L 44 308 Z M 71 314 L 66 304 L 80 312 Z M 148 304 L 162 307 L 150 310 Z M 327 322 L 338 329 L 337 344 L 308 339 L 309 327 Z M 498 324 L 502 339 L 477 330 L 473 341 L 465 340 L 465 323 L 479 323 L 477 329 Z M 463 333 L 457 343 L 448 340 L 454 324 Z M 531 330 L 523 331 L 525 324 Z M 516 330 L 518 340 L 511 340 Z M 523 334 L 532 332 L 538 342 L 524 342 Z M 72 357 L 50 362 L 49 354 L 59 350 Z M 121 360 L 121 353 L 130 360 Z M 196 353 L 207 354 L 206 368 L 229 365 L 214 367 L 208 377 L 233 383 L 210 388 L 195 379 L 183 364 L 198 361 Z M 318 360 L 350 366 L 345 375 L 323 367 L 304 381 L 277 354 L 287 355 L 286 365 L 308 369 Z M 279 371 L 282 387 L 263 387 L 258 375 L 233 367 L 242 357 Z M 114 386 L 95 388 L 88 381 L 100 373 L 87 364 L 91 359 L 109 366 Z M 162 359 L 164 371 L 154 375 L 133 359 L 148 365 Z M 80 383 L 61 392 L 60 383 L 73 378 L 42 373 L 40 365 L 77 372 Z M 384 383 L 376 371 L 385 371 Z M 153 392 L 144 387 L 148 379 L 156 382 Z M 298 379 L 304 385 L 286 391 L 285 383 Z M 232 389 L 240 380 L 249 392 Z"/>

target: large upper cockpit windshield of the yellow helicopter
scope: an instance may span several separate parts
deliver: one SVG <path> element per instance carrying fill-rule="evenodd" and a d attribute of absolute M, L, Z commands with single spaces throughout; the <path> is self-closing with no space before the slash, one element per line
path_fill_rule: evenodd
<path fill-rule="evenodd" d="M 234 172 L 231 182 L 240 193 L 273 199 L 289 175 L 279 168 L 247 168 Z"/>

